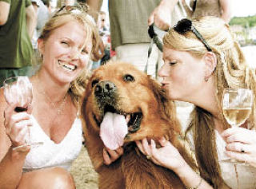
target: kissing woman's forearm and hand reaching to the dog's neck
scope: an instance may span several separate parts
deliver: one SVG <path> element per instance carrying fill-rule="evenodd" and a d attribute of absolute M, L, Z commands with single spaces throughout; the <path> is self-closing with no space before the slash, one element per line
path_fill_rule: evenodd
<path fill-rule="evenodd" d="M 156 148 L 154 140 L 151 140 L 150 144 L 148 144 L 146 139 L 136 143 L 140 151 L 149 156 L 154 163 L 174 171 L 186 187 L 198 189 L 213 188 L 186 163 L 177 148 L 174 148 L 164 138 L 159 140 L 161 148 Z"/>

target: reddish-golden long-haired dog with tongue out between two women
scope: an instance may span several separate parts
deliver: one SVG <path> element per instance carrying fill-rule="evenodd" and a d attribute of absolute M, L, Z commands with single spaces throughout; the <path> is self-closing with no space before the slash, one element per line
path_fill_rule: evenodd
<path fill-rule="evenodd" d="M 186 188 L 174 171 L 154 164 L 134 143 L 165 136 L 185 154 L 178 140 L 181 124 L 174 102 L 166 97 L 158 81 L 134 65 L 110 61 L 90 77 L 81 115 L 86 148 L 98 172 L 100 189 Z M 103 148 L 120 146 L 124 154 L 105 165 Z"/>

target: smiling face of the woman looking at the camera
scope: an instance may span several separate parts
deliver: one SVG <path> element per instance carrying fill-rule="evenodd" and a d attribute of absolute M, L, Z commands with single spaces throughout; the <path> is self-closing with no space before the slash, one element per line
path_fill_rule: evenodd
<path fill-rule="evenodd" d="M 46 41 L 38 41 L 43 62 L 42 69 L 59 83 L 70 83 L 78 77 L 90 58 L 91 41 L 78 22 L 67 22 L 50 34 Z"/>

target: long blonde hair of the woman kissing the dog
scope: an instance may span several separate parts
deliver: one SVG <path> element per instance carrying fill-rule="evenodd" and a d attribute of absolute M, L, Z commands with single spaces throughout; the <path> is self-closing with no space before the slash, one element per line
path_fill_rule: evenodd
<path fill-rule="evenodd" d="M 240 45 L 235 40 L 230 26 L 220 18 L 203 17 L 195 18 L 192 25 L 202 34 L 202 37 L 210 45 L 217 57 L 217 65 L 214 70 L 214 83 L 216 85 L 216 100 L 218 101 L 219 119 L 222 120 L 223 128 L 228 124 L 222 114 L 222 92 L 224 88 L 246 88 L 256 93 L 255 70 L 247 64 Z M 207 49 L 202 41 L 192 32 L 177 33 L 171 29 L 163 38 L 164 45 L 170 49 L 178 49 L 190 52 L 194 56 L 202 57 Z M 255 95 L 250 126 L 255 128 Z M 222 176 L 218 164 L 216 140 L 214 132 L 214 120 L 210 112 L 196 107 L 190 115 L 191 122 L 186 132 L 194 133 L 195 156 L 198 162 L 200 174 L 214 188 L 222 185 Z M 209 137 L 211 136 L 211 137 Z"/>

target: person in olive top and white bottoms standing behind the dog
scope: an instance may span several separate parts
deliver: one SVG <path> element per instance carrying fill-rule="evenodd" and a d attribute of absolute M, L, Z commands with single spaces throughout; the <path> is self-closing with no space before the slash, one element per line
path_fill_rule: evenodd
<path fill-rule="evenodd" d="M 99 11 L 102 0 L 88 0 L 87 3 L 92 9 Z M 116 58 L 130 62 L 155 77 L 156 67 L 162 61 L 162 53 L 154 45 L 148 61 L 150 47 L 148 26 L 154 23 L 161 30 L 166 30 L 180 18 L 185 18 L 182 2 L 109 0 L 109 12 L 111 47 L 116 52 Z"/>

